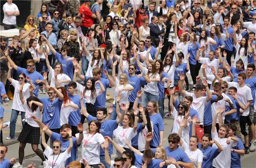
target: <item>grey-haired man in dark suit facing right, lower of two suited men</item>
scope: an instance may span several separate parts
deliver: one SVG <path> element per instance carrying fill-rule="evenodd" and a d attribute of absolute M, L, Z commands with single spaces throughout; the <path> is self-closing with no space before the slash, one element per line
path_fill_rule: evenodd
<path fill-rule="evenodd" d="M 164 29 L 166 28 L 166 25 L 164 25 L 163 29 L 160 30 L 158 27 L 158 18 L 156 16 L 152 16 L 151 18 L 151 23 L 148 26 L 150 28 L 150 35 L 153 37 L 154 43 L 152 44 L 154 45 L 158 45 L 159 41 L 156 40 L 158 38 L 159 35 L 161 35 L 162 33 L 164 33 Z"/>

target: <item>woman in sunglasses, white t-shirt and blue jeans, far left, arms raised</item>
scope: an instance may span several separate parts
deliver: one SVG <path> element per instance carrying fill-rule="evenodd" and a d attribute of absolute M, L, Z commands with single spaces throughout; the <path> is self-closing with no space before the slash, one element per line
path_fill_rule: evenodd
<path fill-rule="evenodd" d="M 7 74 L 7 79 L 12 83 L 12 86 L 14 87 L 14 94 L 13 94 L 13 101 L 15 103 L 12 103 L 12 114 L 11 114 L 11 119 L 10 119 L 10 135 L 6 137 L 5 139 L 15 139 L 15 126 L 17 122 L 17 118 L 19 113 L 21 113 L 21 121 L 25 118 L 25 109 L 22 107 L 20 97 L 19 97 L 19 92 L 20 92 L 20 86 L 24 83 L 23 86 L 23 97 L 24 99 L 27 99 L 30 94 L 29 94 L 29 89 L 31 88 L 32 90 L 35 90 L 35 85 L 31 82 L 30 77 L 26 76 L 26 74 L 21 73 L 19 74 L 19 81 L 16 81 L 12 79 L 11 77 L 11 71 L 12 71 L 13 66 L 9 66 L 9 71 Z M 27 80 L 28 83 L 25 83 Z M 24 126 L 25 121 L 22 121 L 22 127 Z"/>

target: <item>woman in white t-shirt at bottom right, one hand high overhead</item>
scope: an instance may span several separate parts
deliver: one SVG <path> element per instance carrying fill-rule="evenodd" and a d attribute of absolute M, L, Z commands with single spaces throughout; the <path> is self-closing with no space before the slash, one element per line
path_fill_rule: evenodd
<path fill-rule="evenodd" d="M 217 133 L 216 129 L 216 121 L 217 116 L 220 113 L 225 112 L 225 108 L 217 108 L 215 111 L 214 116 L 212 117 L 212 140 L 217 141 L 220 143 L 221 147 L 223 148 L 223 151 L 220 152 L 220 154 L 213 159 L 212 166 L 214 167 L 230 167 L 231 164 L 231 152 L 230 148 L 233 146 L 236 146 L 236 143 L 238 142 L 238 139 L 236 137 L 228 137 L 228 126 L 226 124 L 223 124 L 222 117 L 219 117 L 219 131 Z M 215 144 L 212 145 L 212 147 L 216 147 Z M 224 159 L 225 158 L 225 159 Z"/>

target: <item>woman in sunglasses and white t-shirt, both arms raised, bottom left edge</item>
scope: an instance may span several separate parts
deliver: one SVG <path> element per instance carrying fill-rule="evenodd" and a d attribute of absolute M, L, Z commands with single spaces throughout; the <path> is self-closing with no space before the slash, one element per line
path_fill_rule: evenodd
<path fill-rule="evenodd" d="M 48 127 L 49 127 L 48 124 L 44 126 L 42 130 L 42 140 L 41 140 L 45 148 L 44 155 L 48 158 L 47 168 L 62 168 L 65 166 L 66 160 L 69 157 L 71 157 L 71 149 L 73 147 L 72 131 L 70 128 L 67 128 L 68 136 L 69 136 L 69 146 L 65 150 L 65 152 L 61 152 L 62 143 L 59 140 L 55 140 L 52 142 L 53 149 L 51 149 L 50 146 L 48 146 L 47 143 L 45 142 L 44 131 L 46 131 Z"/>

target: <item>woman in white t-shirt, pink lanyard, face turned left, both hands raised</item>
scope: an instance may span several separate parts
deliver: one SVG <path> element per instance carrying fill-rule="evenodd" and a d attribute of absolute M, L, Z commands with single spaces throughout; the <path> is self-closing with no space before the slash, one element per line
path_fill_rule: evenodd
<path fill-rule="evenodd" d="M 117 106 L 116 108 L 119 108 L 119 106 Z M 121 105 L 121 109 L 124 112 L 126 112 L 129 108 L 129 103 L 127 104 L 122 104 Z M 118 109 L 117 109 L 118 110 Z M 138 127 L 138 121 L 137 121 L 137 115 L 138 115 L 138 111 L 133 111 L 134 114 L 134 122 L 132 119 L 132 116 L 129 114 L 125 114 L 124 115 L 124 119 L 123 119 L 123 126 L 118 126 L 117 129 L 115 129 L 113 131 L 113 135 L 116 136 L 116 143 L 123 147 L 125 150 L 130 149 L 126 144 L 126 138 L 128 138 L 129 143 L 132 143 L 132 138 L 135 137 L 135 135 L 137 134 L 137 127 Z M 116 153 L 117 156 L 121 156 L 121 153 L 117 152 Z"/>

